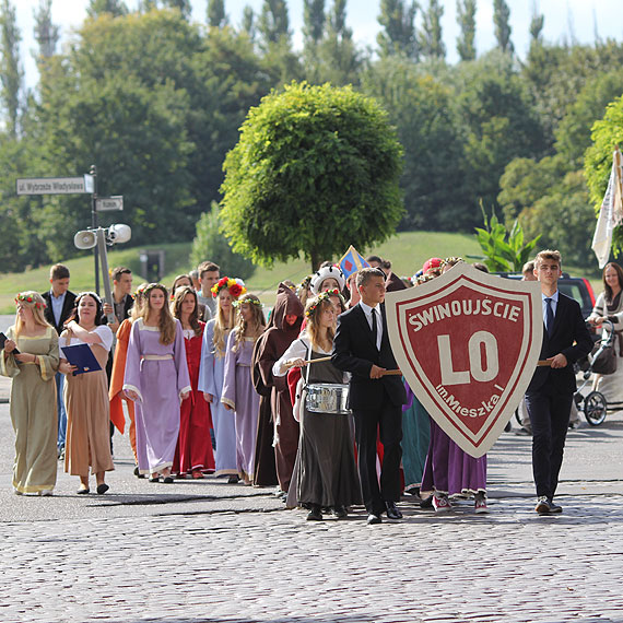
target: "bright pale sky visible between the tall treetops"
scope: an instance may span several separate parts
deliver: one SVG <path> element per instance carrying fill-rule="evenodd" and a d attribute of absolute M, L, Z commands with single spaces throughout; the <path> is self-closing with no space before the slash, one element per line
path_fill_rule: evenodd
<path fill-rule="evenodd" d="M 537 7 L 545 16 L 544 37 L 549 42 L 569 40 L 573 37 L 583 44 L 595 40 L 595 33 L 602 39 L 613 38 L 623 40 L 622 0 L 536 0 Z M 127 5 L 134 9 L 137 0 L 127 0 Z M 427 4 L 421 0 L 421 4 Z M 13 0 L 17 11 L 17 24 L 22 32 L 22 60 L 26 71 L 26 83 L 34 86 L 37 82 L 36 64 L 32 51 L 35 49 L 33 38 L 33 11 L 39 5 L 39 0 Z M 205 22 L 208 0 L 191 0 L 192 20 Z M 240 23 L 243 9 L 246 4 L 259 12 L 262 0 L 225 0 L 225 11 L 230 22 Z M 376 34 L 379 30 L 377 16 L 379 0 L 348 0 L 346 20 L 353 31 L 354 39 L 362 46 L 375 46 Z M 456 62 L 456 0 L 442 0 L 445 13 L 443 17 L 444 40 L 447 49 L 447 60 Z M 533 0 L 508 0 L 510 7 L 512 39 L 515 50 L 524 56 L 528 49 L 529 25 L 532 14 Z M 52 0 L 54 22 L 61 26 L 61 43 L 71 38 L 72 28 L 80 26 L 86 14 L 89 0 Z M 326 0 L 331 7 L 332 0 Z M 493 0 L 478 0 L 477 12 L 477 49 L 484 52 L 495 45 L 493 35 Z M 294 46 L 301 47 L 301 28 L 303 23 L 303 0 L 287 0 L 290 24 L 293 32 Z"/>

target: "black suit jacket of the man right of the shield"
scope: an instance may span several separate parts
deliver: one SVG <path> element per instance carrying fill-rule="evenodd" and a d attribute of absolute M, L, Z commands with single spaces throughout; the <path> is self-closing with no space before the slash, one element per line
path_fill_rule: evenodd
<path fill-rule="evenodd" d="M 543 343 L 539 358 L 546 360 L 562 353 L 567 358 L 567 366 L 555 369 L 546 366 L 538 367 L 527 393 L 539 391 L 544 386 L 552 386 L 556 393 L 573 393 L 577 388 L 573 364 L 591 350 L 592 340 L 578 303 L 559 291 L 554 330 L 550 338 L 548 330 L 543 328 Z"/>

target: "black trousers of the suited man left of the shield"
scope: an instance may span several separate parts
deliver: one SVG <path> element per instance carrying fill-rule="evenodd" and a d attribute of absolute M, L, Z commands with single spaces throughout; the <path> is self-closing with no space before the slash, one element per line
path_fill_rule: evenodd
<path fill-rule="evenodd" d="M 374 515 L 385 512 L 385 502 L 400 499 L 402 407 L 385 398 L 380 409 L 353 409 L 362 494 L 366 510 Z M 383 444 L 380 486 L 376 473 L 377 431 Z"/>

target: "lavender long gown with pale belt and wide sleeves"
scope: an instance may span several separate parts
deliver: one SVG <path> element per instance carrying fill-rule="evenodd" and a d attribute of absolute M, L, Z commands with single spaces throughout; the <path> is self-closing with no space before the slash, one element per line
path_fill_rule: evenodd
<path fill-rule="evenodd" d="M 190 376 L 179 320 L 175 340 L 160 341 L 160 329 L 142 318 L 130 332 L 124 389 L 136 391 L 137 455 L 141 473 L 173 467 L 179 435 L 180 395 L 190 391 Z"/>

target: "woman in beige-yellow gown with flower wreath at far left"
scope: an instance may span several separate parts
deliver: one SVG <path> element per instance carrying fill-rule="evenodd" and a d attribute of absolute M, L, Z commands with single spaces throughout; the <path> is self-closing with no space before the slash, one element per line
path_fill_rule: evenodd
<path fill-rule="evenodd" d="M 46 304 L 39 294 L 22 292 L 15 303 L 15 324 L 7 331 L 7 341 L 0 351 L 0 374 L 13 379 L 13 487 L 17 495 L 51 495 L 57 469 L 54 377 L 59 363 L 58 334 L 44 318 Z"/>

